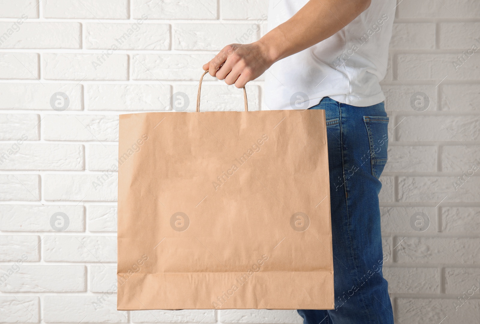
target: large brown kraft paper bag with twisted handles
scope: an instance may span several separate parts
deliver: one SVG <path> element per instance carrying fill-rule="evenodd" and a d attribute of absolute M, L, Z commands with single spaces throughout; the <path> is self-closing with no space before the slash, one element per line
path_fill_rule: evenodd
<path fill-rule="evenodd" d="M 324 110 L 120 115 L 117 309 L 334 308 Z"/>

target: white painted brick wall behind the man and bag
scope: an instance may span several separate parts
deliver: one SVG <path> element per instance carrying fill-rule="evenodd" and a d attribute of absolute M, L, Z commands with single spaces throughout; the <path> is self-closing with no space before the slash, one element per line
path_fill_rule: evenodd
<path fill-rule="evenodd" d="M 454 181 L 480 166 L 480 51 L 453 62 L 480 47 L 480 2 L 398 2 L 380 193 L 394 314 L 479 323 L 480 291 L 454 302 L 480 287 L 480 172 Z M 116 161 L 117 115 L 172 110 L 178 91 L 192 111 L 202 64 L 266 11 L 267 0 L 0 0 L 0 37 L 12 30 L 0 38 L 0 277 L 14 269 L 0 323 L 301 323 L 294 311 L 116 311 L 117 174 L 92 186 Z M 262 80 L 247 86 L 255 109 Z M 204 85 L 203 107 L 242 109 L 235 87 Z M 68 106 L 53 110 L 58 92 Z M 415 92 L 428 110 L 412 109 Z M 64 233 L 50 225 L 56 212 L 68 215 Z M 416 212 L 430 218 L 423 232 Z"/>

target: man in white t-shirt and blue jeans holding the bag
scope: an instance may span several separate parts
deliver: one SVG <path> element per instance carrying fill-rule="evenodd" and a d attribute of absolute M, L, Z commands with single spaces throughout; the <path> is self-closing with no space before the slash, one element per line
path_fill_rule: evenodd
<path fill-rule="evenodd" d="M 378 178 L 388 145 L 379 82 L 395 7 L 395 0 L 273 0 L 264 37 L 228 45 L 204 64 L 239 88 L 268 69 L 269 109 L 325 110 L 335 309 L 299 310 L 304 324 L 393 324 Z"/>

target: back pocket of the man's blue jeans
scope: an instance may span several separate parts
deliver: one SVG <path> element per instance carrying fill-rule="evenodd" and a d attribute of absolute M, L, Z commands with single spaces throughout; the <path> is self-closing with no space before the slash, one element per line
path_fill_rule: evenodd
<path fill-rule="evenodd" d="M 363 116 L 370 143 L 370 162 L 372 175 L 377 179 L 387 162 L 388 120 L 386 116 Z"/>

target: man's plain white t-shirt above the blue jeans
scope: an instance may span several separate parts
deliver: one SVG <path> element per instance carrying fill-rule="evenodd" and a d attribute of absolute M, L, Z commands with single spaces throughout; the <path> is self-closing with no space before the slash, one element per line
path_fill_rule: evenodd
<path fill-rule="evenodd" d="M 268 29 L 287 21 L 307 2 L 270 0 Z M 274 63 L 265 72 L 266 107 L 307 109 L 324 97 L 360 107 L 382 102 L 379 82 L 387 70 L 395 7 L 396 0 L 372 0 L 335 35 Z"/>

